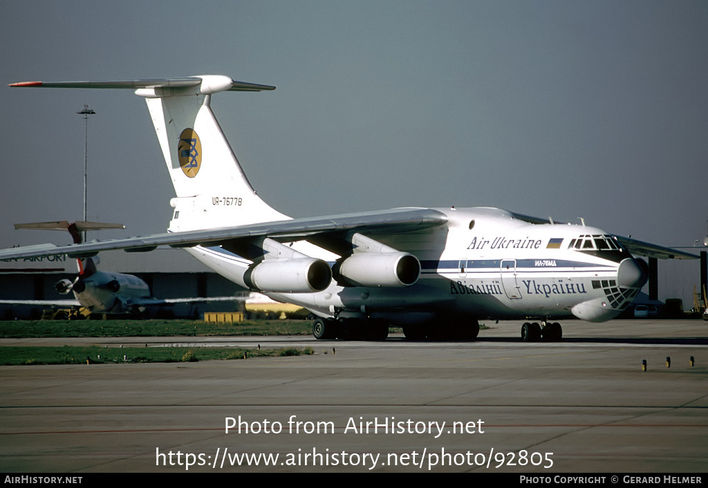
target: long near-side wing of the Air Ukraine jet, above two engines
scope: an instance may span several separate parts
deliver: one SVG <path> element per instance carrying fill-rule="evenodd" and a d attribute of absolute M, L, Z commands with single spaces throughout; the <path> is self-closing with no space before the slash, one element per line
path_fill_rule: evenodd
<path fill-rule="evenodd" d="M 220 246 L 234 241 L 247 241 L 256 237 L 270 237 L 280 242 L 290 242 L 356 230 L 368 234 L 390 234 L 443 225 L 447 216 L 430 208 L 400 208 L 377 212 L 329 215 L 305 219 L 262 222 L 238 227 L 166 232 L 149 236 L 91 241 L 85 244 L 39 244 L 0 251 L 0 259 L 18 259 L 66 254 L 70 258 L 91 257 L 99 251 L 123 249 L 127 252 L 152 251 L 157 246 L 176 248 L 193 246 Z"/>

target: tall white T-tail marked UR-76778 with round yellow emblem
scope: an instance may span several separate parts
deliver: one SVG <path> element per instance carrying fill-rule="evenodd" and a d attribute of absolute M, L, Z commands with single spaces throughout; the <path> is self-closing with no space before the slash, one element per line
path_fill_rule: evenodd
<path fill-rule="evenodd" d="M 287 220 L 256 195 L 229 146 L 211 97 L 220 91 L 274 90 L 228 76 L 120 81 L 30 81 L 11 86 L 134 89 L 147 101 L 176 198 L 169 230 L 186 231 Z"/>

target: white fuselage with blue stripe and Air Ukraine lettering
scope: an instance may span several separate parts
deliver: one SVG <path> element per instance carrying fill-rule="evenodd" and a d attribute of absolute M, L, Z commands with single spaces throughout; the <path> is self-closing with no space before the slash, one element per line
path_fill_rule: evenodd
<path fill-rule="evenodd" d="M 603 322 L 622 312 L 646 282 L 642 262 L 595 227 L 532 224 L 496 208 L 435 210 L 447 215 L 446 225 L 370 236 L 418 258 L 421 274 L 413 285 L 333 280 L 317 293 L 264 293 L 321 317 L 379 317 L 401 325 L 438 317 Z M 230 279 L 243 274 L 244 260 L 222 249 L 190 252 Z"/>

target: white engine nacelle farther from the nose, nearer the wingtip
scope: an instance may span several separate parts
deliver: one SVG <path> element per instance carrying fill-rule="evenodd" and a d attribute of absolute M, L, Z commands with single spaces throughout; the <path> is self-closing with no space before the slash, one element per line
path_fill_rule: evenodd
<path fill-rule="evenodd" d="M 326 289 L 332 270 L 314 258 L 265 259 L 244 274 L 251 290 L 274 293 L 314 293 Z"/>

